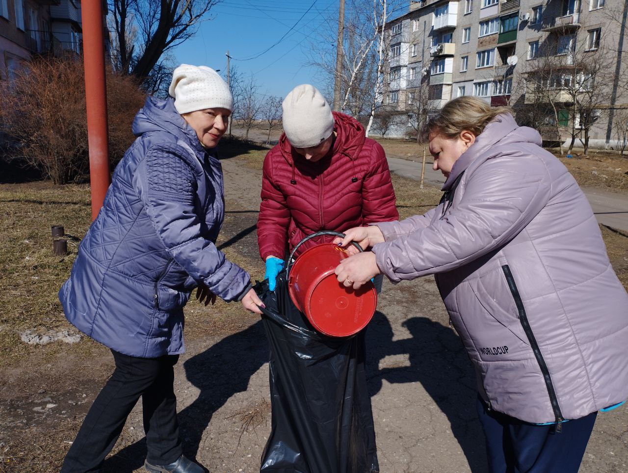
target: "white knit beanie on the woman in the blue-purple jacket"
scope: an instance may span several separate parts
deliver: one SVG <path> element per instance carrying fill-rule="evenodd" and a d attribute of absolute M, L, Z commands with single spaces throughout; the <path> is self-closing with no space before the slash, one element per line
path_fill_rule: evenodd
<path fill-rule="evenodd" d="M 216 108 L 232 111 L 234 107 L 229 85 L 207 66 L 181 64 L 172 74 L 168 92 L 180 114 Z"/>

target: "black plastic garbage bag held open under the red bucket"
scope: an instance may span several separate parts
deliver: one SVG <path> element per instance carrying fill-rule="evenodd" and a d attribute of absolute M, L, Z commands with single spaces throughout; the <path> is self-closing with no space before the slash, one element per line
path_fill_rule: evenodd
<path fill-rule="evenodd" d="M 266 305 L 272 430 L 261 472 L 379 472 L 364 331 L 336 338 L 317 332 L 294 305 L 282 274 L 257 283 Z"/>

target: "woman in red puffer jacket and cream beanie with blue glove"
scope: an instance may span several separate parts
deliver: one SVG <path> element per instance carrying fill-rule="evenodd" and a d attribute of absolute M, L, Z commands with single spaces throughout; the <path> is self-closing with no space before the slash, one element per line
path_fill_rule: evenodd
<path fill-rule="evenodd" d="M 312 85 L 283 102 L 284 134 L 264 160 L 257 220 L 259 253 L 271 290 L 284 255 L 321 230 L 399 219 L 386 155 L 354 118 L 332 112 Z M 321 241 L 303 244 L 298 253 Z"/>

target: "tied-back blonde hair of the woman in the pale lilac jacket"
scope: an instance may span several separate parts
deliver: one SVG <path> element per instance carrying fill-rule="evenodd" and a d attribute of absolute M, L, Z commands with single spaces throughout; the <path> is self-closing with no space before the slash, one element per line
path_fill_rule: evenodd
<path fill-rule="evenodd" d="M 424 141 L 430 139 L 432 133 L 442 134 L 451 139 L 460 136 L 464 130 L 478 136 L 489 122 L 504 113 L 511 114 L 511 108 L 491 107 L 477 97 L 458 97 L 447 102 L 437 114 L 428 118 L 421 136 Z"/>

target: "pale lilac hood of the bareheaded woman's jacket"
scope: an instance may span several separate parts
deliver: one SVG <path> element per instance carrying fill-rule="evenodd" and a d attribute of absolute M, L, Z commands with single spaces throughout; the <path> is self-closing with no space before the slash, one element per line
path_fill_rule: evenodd
<path fill-rule="evenodd" d="M 538 131 L 527 126 L 518 126 L 511 114 L 505 113 L 495 117 L 475 138 L 475 143 L 460 155 L 453 163 L 452 172 L 443 184 L 441 190 L 450 190 L 456 179 L 473 163 L 478 156 L 483 155 L 493 146 L 515 143 L 534 143 L 541 146 L 543 143 Z"/>

